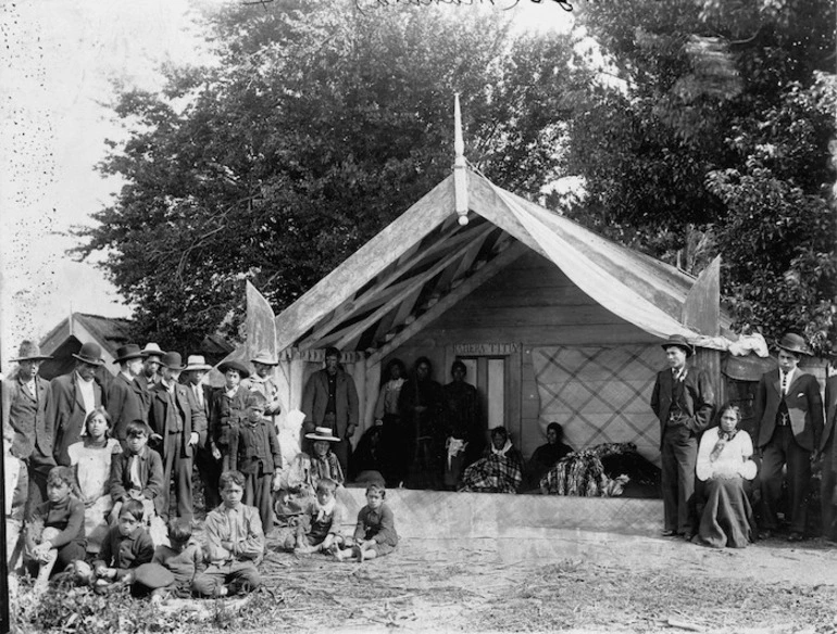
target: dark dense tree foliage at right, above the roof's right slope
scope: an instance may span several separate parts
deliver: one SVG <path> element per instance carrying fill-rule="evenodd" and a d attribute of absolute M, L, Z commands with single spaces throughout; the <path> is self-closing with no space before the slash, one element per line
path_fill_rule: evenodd
<path fill-rule="evenodd" d="M 834 346 L 834 3 L 580 9 L 610 74 L 571 128 L 569 167 L 588 189 L 575 216 L 671 262 L 699 246 L 680 259 L 694 269 L 720 253 L 738 328 Z"/>

